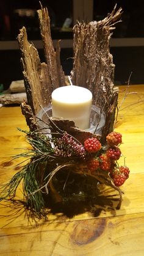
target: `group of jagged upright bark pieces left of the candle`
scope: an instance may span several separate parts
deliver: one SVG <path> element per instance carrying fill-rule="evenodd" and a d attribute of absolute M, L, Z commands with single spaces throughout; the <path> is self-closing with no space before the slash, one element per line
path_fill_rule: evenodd
<path fill-rule="evenodd" d="M 51 103 L 52 90 L 59 86 L 65 86 L 65 75 L 60 65 L 59 43 L 56 52 L 52 45 L 48 10 L 41 7 L 41 10 L 38 10 L 38 17 L 46 63 L 40 62 L 37 49 L 27 41 L 25 27 L 20 30 L 18 35 L 27 103 L 31 106 L 33 114 L 37 114 L 41 106 L 45 107 Z"/>

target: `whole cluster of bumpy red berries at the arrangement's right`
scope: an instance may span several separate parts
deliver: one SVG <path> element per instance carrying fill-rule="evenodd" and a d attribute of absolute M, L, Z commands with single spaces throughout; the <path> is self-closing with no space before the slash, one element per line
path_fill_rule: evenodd
<path fill-rule="evenodd" d="M 121 156 L 121 150 L 117 146 L 121 144 L 121 138 L 121 134 L 114 131 L 108 134 L 106 137 L 107 147 L 105 148 L 101 147 L 101 143 L 96 137 L 88 138 L 84 142 L 84 148 L 89 154 L 87 161 L 89 172 L 107 171 L 115 186 L 123 185 L 129 177 L 129 168 L 126 166 L 118 167 L 117 165 L 117 160 Z"/>

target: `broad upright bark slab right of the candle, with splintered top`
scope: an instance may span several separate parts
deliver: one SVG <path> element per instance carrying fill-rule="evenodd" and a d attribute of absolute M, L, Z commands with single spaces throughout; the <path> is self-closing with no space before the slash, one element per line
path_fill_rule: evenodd
<path fill-rule="evenodd" d="M 115 6 L 116 8 L 116 6 Z M 74 28 L 74 63 L 71 79 L 76 86 L 83 86 L 93 93 L 93 104 L 106 113 L 103 136 L 113 128 L 117 105 L 117 92 L 113 92 L 115 65 L 109 51 L 111 31 L 121 16 L 115 8 L 102 21 L 77 23 Z"/>

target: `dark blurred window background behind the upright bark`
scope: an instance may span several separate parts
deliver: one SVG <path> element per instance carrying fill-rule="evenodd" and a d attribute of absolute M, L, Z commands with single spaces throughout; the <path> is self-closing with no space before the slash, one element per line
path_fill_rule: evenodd
<path fill-rule="evenodd" d="M 65 75 L 73 66 L 73 32 L 76 20 L 85 22 L 102 20 L 111 12 L 115 4 L 122 7 L 122 22 L 116 24 L 110 53 L 115 64 L 115 84 L 144 84 L 144 1 L 137 0 L 41 0 L 48 7 L 51 18 L 51 34 L 61 41 L 61 63 Z M 37 10 L 39 0 L 0 0 L 0 84 L 8 89 L 10 83 L 23 79 L 20 50 L 16 37 L 25 26 L 30 42 L 38 49 L 41 62 L 45 61 L 40 38 Z"/>

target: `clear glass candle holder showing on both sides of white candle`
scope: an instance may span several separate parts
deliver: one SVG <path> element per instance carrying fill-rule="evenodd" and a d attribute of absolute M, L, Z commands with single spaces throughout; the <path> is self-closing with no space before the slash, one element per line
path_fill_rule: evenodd
<path fill-rule="evenodd" d="M 41 109 L 38 114 L 38 127 L 40 129 L 43 129 L 43 133 L 49 133 L 49 128 L 46 128 L 46 124 L 48 123 L 48 116 L 52 117 L 52 106 L 49 105 L 48 107 L 45 107 Z M 101 135 L 103 127 L 106 122 L 106 115 L 104 112 L 101 112 L 101 109 L 99 109 L 97 106 L 92 105 L 91 112 L 90 112 L 90 128 L 84 131 L 88 131 L 90 133 L 95 133 Z"/>

